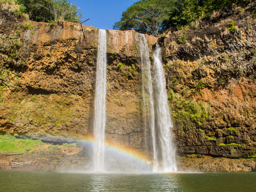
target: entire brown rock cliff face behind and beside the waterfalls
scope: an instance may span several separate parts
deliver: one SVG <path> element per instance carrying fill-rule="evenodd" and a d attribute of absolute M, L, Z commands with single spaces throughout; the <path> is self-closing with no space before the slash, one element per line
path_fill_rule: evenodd
<path fill-rule="evenodd" d="M 157 41 L 162 46 L 180 155 L 255 157 L 251 12 L 252 7 L 237 8 L 158 39 L 146 36 L 151 56 Z M 0 133 L 43 140 L 92 136 L 98 29 L 17 21 L 2 13 Z M 13 26 L 6 28 L 10 19 Z M 142 110 L 137 37 L 135 31 L 107 31 L 105 136 L 112 144 L 145 149 L 151 138 Z"/>

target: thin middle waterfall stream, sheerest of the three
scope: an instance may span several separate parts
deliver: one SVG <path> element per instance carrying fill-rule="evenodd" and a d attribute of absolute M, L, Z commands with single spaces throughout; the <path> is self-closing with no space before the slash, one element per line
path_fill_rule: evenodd
<path fill-rule="evenodd" d="M 144 34 L 139 34 L 139 46 L 141 57 L 141 76 L 142 76 L 142 96 L 144 106 L 144 117 L 149 117 L 150 129 L 153 142 L 153 172 L 158 170 L 157 148 L 156 148 L 156 130 L 155 130 L 155 111 L 152 88 L 152 77 L 150 69 L 150 55 L 148 51 L 147 41 Z"/>

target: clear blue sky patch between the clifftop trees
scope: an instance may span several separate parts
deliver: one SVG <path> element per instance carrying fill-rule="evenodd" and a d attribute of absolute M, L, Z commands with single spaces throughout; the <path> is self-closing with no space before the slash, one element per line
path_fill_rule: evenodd
<path fill-rule="evenodd" d="M 138 0 L 73 0 L 82 13 L 82 21 L 90 18 L 82 25 L 99 29 L 113 29 L 115 22 L 119 22 L 123 11 Z"/>

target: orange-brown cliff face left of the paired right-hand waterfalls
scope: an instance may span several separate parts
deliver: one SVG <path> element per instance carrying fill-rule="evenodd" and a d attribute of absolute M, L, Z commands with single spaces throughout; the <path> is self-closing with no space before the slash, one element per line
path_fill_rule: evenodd
<path fill-rule="evenodd" d="M 98 29 L 20 22 L 8 32 L 2 34 L 3 47 L 10 38 L 15 41 L 9 44 L 20 48 L 14 59 L 12 53 L 2 53 L 2 65 L 12 70 L 2 71 L 2 82 L 9 86 L 2 89 L 1 133 L 91 137 Z M 150 138 L 141 115 L 138 33 L 108 30 L 107 38 L 106 141 L 145 148 Z M 146 38 L 152 50 L 157 38 Z M 8 62 L 4 55 L 13 60 Z"/>

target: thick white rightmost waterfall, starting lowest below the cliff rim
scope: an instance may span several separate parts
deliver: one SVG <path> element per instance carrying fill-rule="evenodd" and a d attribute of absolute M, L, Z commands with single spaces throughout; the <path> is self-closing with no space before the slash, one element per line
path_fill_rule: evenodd
<path fill-rule="evenodd" d="M 162 154 L 163 172 L 176 172 L 175 147 L 173 146 L 172 127 L 173 121 L 170 116 L 167 102 L 166 82 L 161 61 L 161 47 L 156 44 L 153 50 L 156 85 L 156 112 L 157 127 L 159 129 L 159 140 Z"/>

